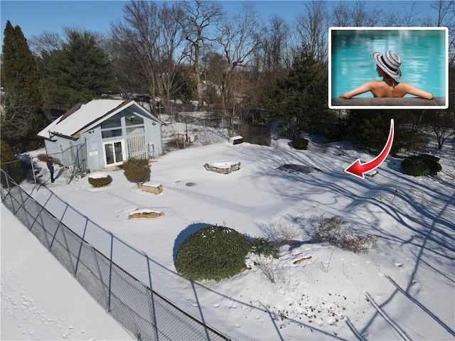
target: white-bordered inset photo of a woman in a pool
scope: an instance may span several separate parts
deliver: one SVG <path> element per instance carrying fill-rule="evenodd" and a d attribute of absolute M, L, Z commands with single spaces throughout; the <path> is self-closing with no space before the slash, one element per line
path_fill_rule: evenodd
<path fill-rule="evenodd" d="M 446 109 L 447 28 L 329 28 L 328 107 Z"/>

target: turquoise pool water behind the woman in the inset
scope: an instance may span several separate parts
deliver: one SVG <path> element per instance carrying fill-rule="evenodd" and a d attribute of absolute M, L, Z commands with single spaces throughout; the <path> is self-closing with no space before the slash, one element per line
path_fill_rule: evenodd
<path fill-rule="evenodd" d="M 331 97 L 338 97 L 368 80 L 382 80 L 371 54 L 387 50 L 394 51 L 402 60 L 399 82 L 409 82 L 432 92 L 434 97 L 446 96 L 446 31 L 333 29 Z M 367 92 L 356 97 L 373 97 L 373 94 Z"/>

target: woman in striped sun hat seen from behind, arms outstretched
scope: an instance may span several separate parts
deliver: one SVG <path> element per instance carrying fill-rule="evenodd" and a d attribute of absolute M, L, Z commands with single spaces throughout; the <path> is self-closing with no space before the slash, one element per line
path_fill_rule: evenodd
<path fill-rule="evenodd" d="M 382 80 L 369 80 L 360 87 L 343 92 L 340 95 L 341 98 L 351 98 L 368 91 L 372 92 L 374 97 L 403 97 L 405 94 L 413 94 L 424 99 L 433 98 L 431 92 L 414 87 L 407 82 L 397 82 L 401 78 L 401 58 L 396 53 L 392 51 L 373 52 L 373 60 L 375 60 L 376 71 Z"/>

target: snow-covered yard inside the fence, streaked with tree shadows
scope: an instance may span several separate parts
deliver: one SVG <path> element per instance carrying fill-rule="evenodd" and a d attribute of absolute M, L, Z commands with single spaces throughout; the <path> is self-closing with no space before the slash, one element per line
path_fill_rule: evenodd
<path fill-rule="evenodd" d="M 378 174 L 362 180 L 343 170 L 357 158 L 374 156 L 348 144 L 310 142 L 308 150 L 297 151 L 287 139 L 274 139 L 272 147 L 225 141 L 155 159 L 151 181 L 163 185 L 159 195 L 141 192 L 121 170 L 104 171 L 113 179 L 105 188 L 92 188 L 87 178 L 67 185 L 58 168 L 55 183 L 22 187 L 57 217 L 65 207 L 55 196 L 68 202 L 73 210 L 66 210 L 63 221 L 76 232 L 81 227 L 74 210 L 112 232 L 122 241 L 113 246 L 117 264 L 147 285 L 150 271 L 154 290 L 233 340 L 454 340 L 453 141 L 437 156 L 443 171 L 434 178 L 404 175 L 400 159 L 389 156 Z M 225 162 L 241 162 L 241 168 L 223 175 L 203 166 Z M 284 164 L 319 171 L 279 171 Z M 47 180 L 47 169 L 41 169 Z M 129 220 L 136 209 L 164 216 Z M 362 234 L 377 236 L 378 249 L 353 254 L 311 243 L 310 218 L 320 215 L 342 217 Z M 274 283 L 251 258 L 251 269 L 241 274 L 192 285 L 176 274 L 174 256 L 185 237 L 208 224 L 250 237 L 283 227 L 294 230 L 299 243 L 281 247 L 280 258 L 266 264 Z M 105 232 L 92 224 L 85 236 L 108 254 Z M 70 275 L 55 274 L 55 280 L 61 276 Z M 13 284 L 4 284 L 2 276 L 2 295 Z"/>

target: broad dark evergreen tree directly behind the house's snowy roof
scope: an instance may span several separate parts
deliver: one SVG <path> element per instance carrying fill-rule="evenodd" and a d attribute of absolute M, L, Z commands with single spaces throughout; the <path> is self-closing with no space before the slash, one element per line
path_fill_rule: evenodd
<path fill-rule="evenodd" d="M 115 90 L 112 65 L 94 33 L 66 30 L 67 41 L 60 49 L 43 51 L 43 77 L 50 104 L 69 109 Z"/>

